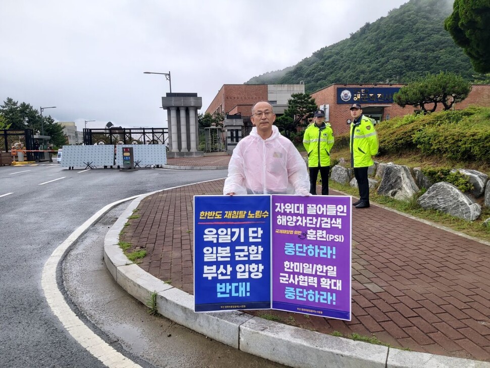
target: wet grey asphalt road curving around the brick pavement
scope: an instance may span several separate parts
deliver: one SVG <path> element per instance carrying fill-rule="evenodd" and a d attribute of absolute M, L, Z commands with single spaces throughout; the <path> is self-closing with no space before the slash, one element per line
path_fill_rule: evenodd
<path fill-rule="evenodd" d="M 48 306 L 41 290 L 46 259 L 110 203 L 224 176 L 222 170 L 67 170 L 56 163 L 0 167 L 0 366 L 104 366 Z M 123 206 L 84 234 L 63 265 L 60 289 L 90 329 L 141 366 L 279 366 L 149 316 L 119 289 L 102 264 L 102 239 Z"/>

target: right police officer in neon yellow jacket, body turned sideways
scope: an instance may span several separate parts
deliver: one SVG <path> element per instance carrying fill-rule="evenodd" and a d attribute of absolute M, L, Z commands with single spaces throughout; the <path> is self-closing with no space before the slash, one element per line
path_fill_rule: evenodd
<path fill-rule="evenodd" d="M 378 153 L 378 136 L 373 121 L 362 114 L 360 104 L 351 106 L 351 165 L 359 187 L 359 201 L 356 208 L 369 207 L 368 167 L 374 164 L 373 156 Z"/>

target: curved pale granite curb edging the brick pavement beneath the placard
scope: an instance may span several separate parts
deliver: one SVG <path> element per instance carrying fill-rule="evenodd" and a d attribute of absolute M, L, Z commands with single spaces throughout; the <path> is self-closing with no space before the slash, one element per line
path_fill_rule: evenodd
<path fill-rule="evenodd" d="M 409 352 L 334 337 L 239 311 L 195 313 L 193 295 L 143 271 L 129 261 L 118 246 L 119 233 L 127 218 L 150 194 L 133 200 L 111 227 L 104 241 L 104 261 L 115 281 L 143 304 L 156 293 L 158 312 L 176 323 L 249 354 L 295 368 L 316 368 L 327 362 L 339 368 L 490 368 L 488 362 Z"/>

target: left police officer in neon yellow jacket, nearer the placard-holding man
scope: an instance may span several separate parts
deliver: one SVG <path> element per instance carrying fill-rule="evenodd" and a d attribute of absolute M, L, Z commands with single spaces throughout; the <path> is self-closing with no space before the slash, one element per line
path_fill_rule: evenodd
<path fill-rule="evenodd" d="M 330 150 L 333 146 L 333 131 L 330 123 L 325 123 L 323 110 L 315 111 L 313 123 L 308 125 L 303 136 L 303 145 L 308 152 L 310 169 L 310 193 L 316 195 L 318 171 L 322 178 L 322 195 L 328 196 L 328 172 L 330 171 Z"/>

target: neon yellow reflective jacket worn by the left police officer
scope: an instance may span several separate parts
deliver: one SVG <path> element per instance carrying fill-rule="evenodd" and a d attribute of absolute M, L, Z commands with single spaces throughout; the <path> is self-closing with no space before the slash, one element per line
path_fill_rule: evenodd
<path fill-rule="evenodd" d="M 318 127 L 314 122 L 308 125 L 303 135 L 303 146 L 308 152 L 309 167 L 330 166 L 330 150 L 333 146 L 333 131 L 330 123 Z"/>

